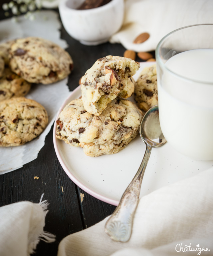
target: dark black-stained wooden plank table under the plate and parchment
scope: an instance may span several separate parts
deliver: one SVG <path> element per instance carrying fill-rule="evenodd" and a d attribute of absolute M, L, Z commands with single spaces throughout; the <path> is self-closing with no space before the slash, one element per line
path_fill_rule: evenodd
<path fill-rule="evenodd" d="M 2 9 L 0 19 L 5 19 Z M 79 85 L 81 76 L 97 59 L 107 55 L 123 56 L 125 51 L 120 44 L 82 45 L 71 38 L 63 26 L 61 38 L 67 41 L 69 45 L 67 51 L 74 61 L 74 70 L 68 82 L 70 91 Z M 141 60 L 136 59 L 136 61 Z M 34 176 L 38 176 L 39 179 L 34 179 Z M 25 200 L 38 203 L 42 193 L 44 193 L 43 199 L 49 202 L 44 229 L 55 234 L 56 241 L 54 243 L 40 241 L 35 254 L 39 256 L 57 255 L 58 244 L 65 236 L 98 223 L 115 209 L 114 205 L 102 202 L 83 191 L 67 176 L 54 150 L 53 127 L 46 136 L 45 145 L 37 159 L 20 169 L 0 175 L 0 206 Z M 82 202 L 80 193 L 84 193 Z"/>

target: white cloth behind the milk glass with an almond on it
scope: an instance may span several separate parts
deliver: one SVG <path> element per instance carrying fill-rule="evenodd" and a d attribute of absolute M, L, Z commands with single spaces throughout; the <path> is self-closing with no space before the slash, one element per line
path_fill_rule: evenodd
<path fill-rule="evenodd" d="M 169 32 L 194 24 L 213 23 L 212 0 L 125 0 L 125 15 L 121 29 L 112 35 L 110 43 L 121 43 L 136 52 L 152 51 Z M 148 40 L 134 44 L 141 33 Z"/>

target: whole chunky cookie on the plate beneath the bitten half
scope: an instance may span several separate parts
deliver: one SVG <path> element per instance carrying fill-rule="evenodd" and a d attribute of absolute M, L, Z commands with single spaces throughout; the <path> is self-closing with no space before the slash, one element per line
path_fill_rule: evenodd
<path fill-rule="evenodd" d="M 87 112 L 81 99 L 71 101 L 60 113 L 56 137 L 83 147 L 88 156 L 114 154 L 139 132 L 141 110 L 129 100 L 116 98 L 100 116 Z"/>

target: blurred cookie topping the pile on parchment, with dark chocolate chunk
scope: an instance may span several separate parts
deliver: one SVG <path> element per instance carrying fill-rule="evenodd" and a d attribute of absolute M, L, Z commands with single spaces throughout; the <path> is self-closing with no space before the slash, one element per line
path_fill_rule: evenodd
<path fill-rule="evenodd" d="M 73 69 L 68 52 L 37 37 L 15 40 L 9 58 L 12 71 L 30 83 L 51 84 L 67 77 Z"/>

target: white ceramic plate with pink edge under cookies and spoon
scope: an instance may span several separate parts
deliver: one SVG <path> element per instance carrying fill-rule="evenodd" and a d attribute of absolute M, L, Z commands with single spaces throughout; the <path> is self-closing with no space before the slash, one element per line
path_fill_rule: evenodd
<path fill-rule="evenodd" d="M 153 63 L 141 63 L 140 71 Z M 59 110 L 81 96 L 80 86 L 76 88 Z M 126 148 L 113 155 L 90 157 L 81 147 L 74 147 L 56 139 L 56 123 L 53 129 L 54 147 L 67 175 L 84 191 L 92 196 L 117 205 L 125 188 L 134 177 L 145 153 L 145 144 L 138 135 Z M 212 168 L 213 161 L 196 161 L 175 151 L 168 143 L 153 148 L 143 177 L 140 197 L 201 171 Z"/>

